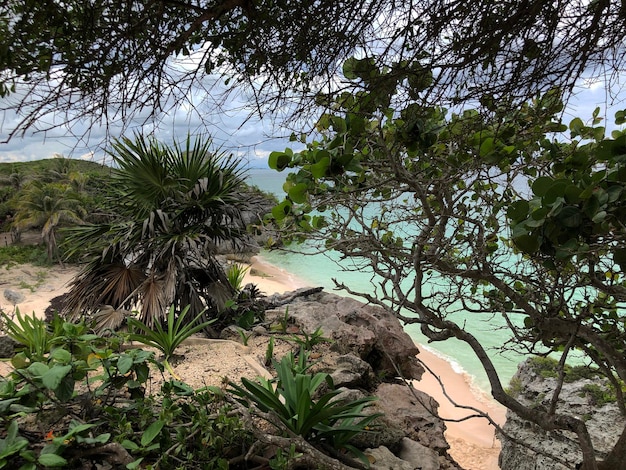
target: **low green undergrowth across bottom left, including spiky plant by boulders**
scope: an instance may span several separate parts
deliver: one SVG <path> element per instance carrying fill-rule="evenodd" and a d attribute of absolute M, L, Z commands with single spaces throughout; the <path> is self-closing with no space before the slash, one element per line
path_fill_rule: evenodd
<path fill-rule="evenodd" d="M 11 361 L 14 371 L 0 377 L 0 423 L 7 430 L 0 439 L 0 468 L 74 468 L 94 458 L 128 469 L 236 470 L 249 468 L 242 460 L 248 454 L 251 462 L 285 469 L 303 456 L 291 440 L 257 456 L 253 431 L 222 388 L 194 390 L 163 377 L 160 388 L 149 392 L 151 375 L 163 374 L 163 365 L 153 352 L 122 348 L 126 336 L 100 337 L 85 323 L 59 316 L 47 324 L 18 312 L 4 321 L 21 346 Z M 308 367 L 301 350 L 298 359 L 291 354 L 276 364 L 275 381 L 261 386 L 244 379 L 245 388 L 231 383 L 230 391 L 260 410 L 276 407 L 285 429 L 311 444 L 364 459 L 351 439 L 378 416 L 364 413 L 373 398 L 341 400 L 328 374 L 309 374 Z"/>

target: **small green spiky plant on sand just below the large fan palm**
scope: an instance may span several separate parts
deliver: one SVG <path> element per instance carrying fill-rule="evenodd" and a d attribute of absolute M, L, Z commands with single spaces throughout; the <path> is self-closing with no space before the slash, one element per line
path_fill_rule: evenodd
<path fill-rule="evenodd" d="M 163 353 L 163 365 L 174 377 L 176 377 L 176 374 L 169 363 L 169 359 L 174 355 L 176 348 L 191 335 L 206 328 L 215 321 L 209 320 L 200 323 L 199 321 L 204 311 L 200 312 L 191 321 L 186 321 L 188 312 L 189 306 L 185 307 L 178 316 L 176 316 L 175 308 L 172 305 L 167 314 L 165 328 L 161 323 L 155 323 L 151 328 L 136 318 L 128 319 L 128 326 L 132 331 L 129 335 L 129 339 L 145 344 L 146 346 L 157 348 L 161 351 L 161 353 Z"/>

